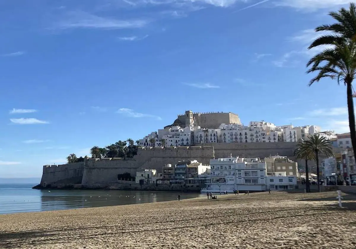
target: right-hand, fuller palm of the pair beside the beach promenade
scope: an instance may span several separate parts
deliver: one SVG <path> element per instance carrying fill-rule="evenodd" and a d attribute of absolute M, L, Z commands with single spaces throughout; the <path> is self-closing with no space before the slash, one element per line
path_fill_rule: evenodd
<path fill-rule="evenodd" d="M 319 134 L 314 134 L 308 137 L 309 139 L 305 141 L 304 146 L 306 151 L 313 152 L 314 159 L 316 162 L 316 176 L 318 178 L 318 190 L 320 192 L 320 170 L 319 170 L 319 155 L 325 155 L 326 157 L 332 157 L 333 145 L 331 142 L 322 137 Z"/>

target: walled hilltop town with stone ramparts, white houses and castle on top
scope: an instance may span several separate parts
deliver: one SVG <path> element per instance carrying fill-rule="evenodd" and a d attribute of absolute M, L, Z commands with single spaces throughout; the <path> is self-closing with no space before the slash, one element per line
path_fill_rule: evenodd
<path fill-rule="evenodd" d="M 150 144 L 148 143 L 150 141 L 146 140 L 149 140 L 150 137 L 147 137 L 140 140 L 142 147 L 138 149 L 137 155 L 133 158 L 98 159 L 86 157 L 84 162 L 80 163 L 45 165 L 43 166 L 41 186 L 51 185 L 51 187 L 56 187 L 80 184 L 82 187 L 97 187 L 117 182 L 119 174 L 130 173 L 134 176 L 137 171 L 144 169 L 156 169 L 160 172 L 162 165 L 176 164 L 182 160 L 195 159 L 203 164 L 209 164 L 210 159 L 226 158 L 231 154 L 250 158 L 283 155 L 294 159 L 293 152 L 297 145 L 298 130 L 293 132 L 297 134 L 293 135 L 295 137 L 293 140 L 286 141 L 285 139 L 279 139 L 279 132 L 283 133 L 282 129 L 288 131 L 287 138 L 289 139 L 289 137 L 292 137 L 293 127 L 291 125 L 278 127 L 281 131 L 276 131 L 276 126 L 274 128 L 273 126 L 274 124 L 272 123 L 262 121 L 250 122 L 250 126 L 246 128 L 242 126 L 239 116 L 231 112 L 193 113 L 192 111 L 186 111 L 185 114 L 178 115 L 178 118 L 171 125 L 166 126 L 165 129 L 158 130 L 158 133 L 153 132 L 155 134 L 151 133 L 152 138 L 158 138 L 160 132 L 163 134 L 163 138 L 164 136 L 167 136 L 167 138 L 173 136 L 174 141 L 173 138 L 170 141 L 167 139 L 167 142 L 170 142 L 170 144 L 166 144 L 167 147 L 161 147 L 160 144 L 157 144 L 158 141 L 156 141 L 156 147 L 149 147 Z M 200 127 L 203 127 L 203 131 L 199 130 Z M 239 129 L 245 128 L 248 129 L 246 134 L 235 134 L 235 129 L 237 132 Z M 300 128 L 303 134 L 306 134 L 305 132 L 310 129 L 310 127 L 297 128 Z M 174 131 L 171 131 L 172 129 Z M 264 135 L 265 133 L 263 132 L 266 129 L 269 129 L 269 133 Z M 275 138 L 271 133 L 272 130 L 277 134 L 275 136 L 276 142 L 274 142 Z M 234 131 L 234 134 L 231 131 Z M 174 134 L 168 134 L 169 132 Z M 228 137 L 229 132 L 231 133 L 230 138 Z M 247 134 L 248 132 L 251 134 Z M 167 134 L 164 135 L 165 133 Z M 232 135 L 236 136 L 236 138 L 232 137 Z M 188 136 L 192 137 L 188 139 Z M 195 140 L 193 136 L 195 136 Z M 189 142 L 187 145 L 187 139 L 193 143 L 190 144 Z M 236 139 L 236 141 L 232 139 Z M 194 146 L 194 144 L 198 144 L 198 146 Z"/>

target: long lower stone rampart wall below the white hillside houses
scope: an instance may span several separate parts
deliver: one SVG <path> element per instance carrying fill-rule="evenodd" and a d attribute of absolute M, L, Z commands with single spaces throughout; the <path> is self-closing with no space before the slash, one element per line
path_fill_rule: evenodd
<path fill-rule="evenodd" d="M 213 145 L 213 146 L 211 146 Z M 51 187 L 69 184 L 82 184 L 84 187 L 96 184 L 117 182 L 117 175 L 130 173 L 136 176 L 137 170 L 156 169 L 161 172 L 164 164 L 195 159 L 209 164 L 210 159 L 233 156 L 268 157 L 283 155 L 293 157 L 296 143 L 215 143 L 209 146 L 139 148 L 133 158 L 88 158 L 83 163 L 45 165 L 41 185 Z"/>

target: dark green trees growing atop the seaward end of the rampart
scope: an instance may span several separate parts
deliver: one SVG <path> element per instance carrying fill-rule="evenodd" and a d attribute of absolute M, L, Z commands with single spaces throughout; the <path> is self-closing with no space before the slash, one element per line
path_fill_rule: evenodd
<path fill-rule="evenodd" d="M 99 146 L 93 146 L 90 149 L 91 158 L 132 158 L 134 155 L 137 155 L 139 140 L 135 142 L 129 138 L 125 141 L 117 141 L 114 144 L 100 148 Z M 77 155 L 70 154 L 67 157 L 67 163 L 79 163 L 84 161 L 83 157 L 77 158 Z"/>

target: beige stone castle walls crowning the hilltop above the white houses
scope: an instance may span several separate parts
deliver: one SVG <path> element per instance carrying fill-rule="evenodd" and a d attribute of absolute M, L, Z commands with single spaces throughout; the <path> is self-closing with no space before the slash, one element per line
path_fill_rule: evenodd
<path fill-rule="evenodd" d="M 183 124 L 187 123 L 189 120 L 188 113 L 191 111 L 186 111 L 185 114 L 178 115 L 178 120 Z M 193 118 L 195 120 L 195 126 L 200 126 L 201 128 L 211 128 L 217 129 L 220 124 L 241 124 L 239 115 L 232 112 L 191 112 L 193 113 Z"/>

